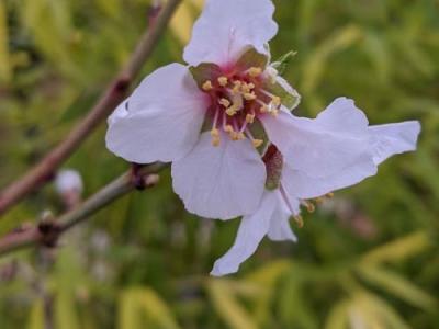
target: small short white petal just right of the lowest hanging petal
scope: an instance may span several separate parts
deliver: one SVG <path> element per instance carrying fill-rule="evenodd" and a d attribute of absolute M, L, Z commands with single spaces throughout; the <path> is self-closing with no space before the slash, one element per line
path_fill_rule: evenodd
<path fill-rule="evenodd" d="M 270 240 L 273 241 L 291 240 L 295 242 L 297 241 L 297 238 L 292 231 L 290 226 L 290 217 L 292 214 L 286 207 L 285 202 L 282 198 L 280 192 L 277 191 L 275 193 L 278 194 L 277 197 L 278 205 L 274 209 L 273 215 L 271 216 L 268 237 L 270 238 Z M 299 201 L 296 207 L 299 213 Z"/>

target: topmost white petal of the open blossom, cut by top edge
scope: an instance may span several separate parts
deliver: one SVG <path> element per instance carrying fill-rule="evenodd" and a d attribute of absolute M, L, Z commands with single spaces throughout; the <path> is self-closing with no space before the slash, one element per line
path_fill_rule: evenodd
<path fill-rule="evenodd" d="M 251 46 L 267 54 L 266 44 L 277 34 L 271 0 L 207 0 L 195 22 L 184 60 L 227 65 Z"/>

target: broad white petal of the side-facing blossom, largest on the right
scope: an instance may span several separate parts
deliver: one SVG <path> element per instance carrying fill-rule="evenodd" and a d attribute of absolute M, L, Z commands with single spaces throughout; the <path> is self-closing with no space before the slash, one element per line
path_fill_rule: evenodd
<path fill-rule="evenodd" d="M 357 112 L 352 114 L 357 116 Z M 349 166 L 361 163 L 368 155 L 371 157 L 367 129 L 365 133 L 360 129 L 360 134 L 348 134 L 333 128 L 328 117 L 296 117 L 285 109 L 277 117 L 264 115 L 261 121 L 285 162 L 313 178 L 339 173 Z M 369 166 L 364 170 L 364 174 L 370 174 Z"/>

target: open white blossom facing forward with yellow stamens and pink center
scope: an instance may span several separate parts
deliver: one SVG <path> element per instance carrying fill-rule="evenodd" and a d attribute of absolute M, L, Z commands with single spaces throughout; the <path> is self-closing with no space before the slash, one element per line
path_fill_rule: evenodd
<path fill-rule="evenodd" d="M 270 0 L 207 0 L 184 49 L 189 66 L 159 68 L 109 118 L 108 148 L 132 162 L 172 162 L 175 191 L 200 216 L 255 212 L 266 182 L 260 123 L 299 101 L 269 66 L 273 11 Z"/>

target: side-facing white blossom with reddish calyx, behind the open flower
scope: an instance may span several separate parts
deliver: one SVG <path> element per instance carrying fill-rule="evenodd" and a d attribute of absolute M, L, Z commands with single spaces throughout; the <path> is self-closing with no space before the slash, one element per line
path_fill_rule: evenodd
<path fill-rule="evenodd" d="M 269 122 L 272 141 L 283 152 L 266 159 L 268 183 L 259 208 L 244 216 L 235 245 L 215 262 L 212 275 L 238 271 L 240 263 L 257 249 L 266 235 L 271 240 L 293 240 L 289 218 L 301 220 L 300 206 L 306 200 L 353 185 L 376 173 L 389 157 L 416 149 L 418 122 L 369 126 L 353 101 L 340 98 L 317 118 L 294 117 L 282 111 L 279 121 Z M 270 149 L 269 149 L 270 151 Z M 267 158 L 267 156 L 266 156 Z"/>

